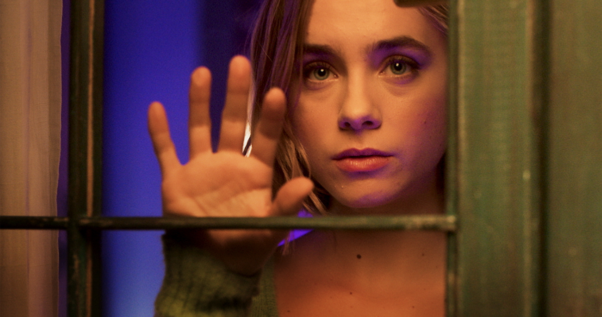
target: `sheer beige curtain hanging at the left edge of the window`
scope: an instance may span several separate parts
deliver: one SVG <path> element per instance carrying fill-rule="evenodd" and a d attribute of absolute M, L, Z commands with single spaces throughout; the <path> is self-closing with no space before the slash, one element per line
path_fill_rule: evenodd
<path fill-rule="evenodd" d="M 61 0 L 0 0 L 0 213 L 55 216 Z M 57 316 L 55 231 L 0 231 L 0 316 Z"/>

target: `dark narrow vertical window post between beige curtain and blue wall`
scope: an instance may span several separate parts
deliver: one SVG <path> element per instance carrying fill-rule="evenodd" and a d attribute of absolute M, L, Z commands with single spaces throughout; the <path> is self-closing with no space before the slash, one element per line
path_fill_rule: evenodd
<path fill-rule="evenodd" d="M 71 4 L 69 83 L 69 224 L 67 312 L 100 316 L 100 232 L 79 220 L 101 211 L 102 54 L 104 1 Z"/>

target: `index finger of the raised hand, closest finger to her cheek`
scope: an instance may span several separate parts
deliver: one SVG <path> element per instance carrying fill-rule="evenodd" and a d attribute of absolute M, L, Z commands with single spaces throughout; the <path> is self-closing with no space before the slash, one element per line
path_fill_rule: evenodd
<path fill-rule="evenodd" d="M 279 88 L 272 88 L 265 94 L 261 115 L 253 134 L 251 156 L 258 158 L 267 166 L 272 166 L 276 148 L 284 124 L 286 97 Z"/>

